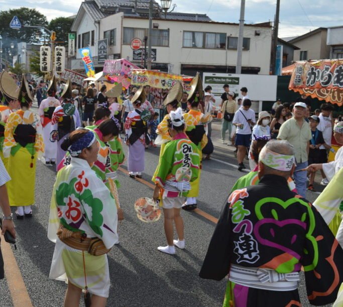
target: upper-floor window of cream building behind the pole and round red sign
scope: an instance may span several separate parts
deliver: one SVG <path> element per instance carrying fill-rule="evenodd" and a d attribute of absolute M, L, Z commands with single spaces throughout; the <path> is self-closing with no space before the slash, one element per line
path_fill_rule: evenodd
<path fill-rule="evenodd" d="M 123 44 L 130 45 L 132 39 L 136 37 L 144 41 L 144 37 L 148 36 L 148 32 L 148 29 L 124 27 Z M 151 42 L 153 46 L 168 47 L 169 30 L 152 29 Z"/>

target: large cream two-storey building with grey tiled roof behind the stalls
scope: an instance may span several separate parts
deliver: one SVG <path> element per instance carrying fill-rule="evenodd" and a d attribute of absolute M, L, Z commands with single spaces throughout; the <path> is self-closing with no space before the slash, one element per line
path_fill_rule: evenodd
<path fill-rule="evenodd" d="M 89 46 L 96 71 L 97 42 L 107 38 L 108 59 L 128 58 L 144 65 L 142 50 L 133 51 L 131 40 L 148 36 L 149 1 L 85 0 L 72 25 L 76 46 Z M 236 70 L 239 25 L 212 21 L 204 14 L 167 13 L 154 3 L 152 56 L 153 69 L 194 75 L 199 72 Z M 245 25 L 242 73 L 269 74 L 272 28 L 270 23 Z M 71 69 L 83 70 L 81 56 Z"/>

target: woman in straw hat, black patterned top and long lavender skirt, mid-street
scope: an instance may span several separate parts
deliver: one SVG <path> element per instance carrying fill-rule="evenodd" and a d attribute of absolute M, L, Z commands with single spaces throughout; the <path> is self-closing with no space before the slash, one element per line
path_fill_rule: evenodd
<path fill-rule="evenodd" d="M 141 111 L 142 101 L 145 101 L 144 88 L 138 89 L 131 102 L 135 110 L 131 111 L 125 121 L 126 144 L 129 147 L 128 170 L 131 178 L 142 178 L 144 171 L 145 145 L 148 143 L 149 111 Z M 147 144 L 149 145 L 149 144 Z"/>

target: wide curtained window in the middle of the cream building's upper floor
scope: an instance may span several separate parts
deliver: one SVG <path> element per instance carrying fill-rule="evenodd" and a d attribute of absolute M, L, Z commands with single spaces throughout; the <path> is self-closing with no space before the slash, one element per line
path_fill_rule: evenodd
<path fill-rule="evenodd" d="M 183 32 L 183 47 L 225 49 L 225 33 Z"/>

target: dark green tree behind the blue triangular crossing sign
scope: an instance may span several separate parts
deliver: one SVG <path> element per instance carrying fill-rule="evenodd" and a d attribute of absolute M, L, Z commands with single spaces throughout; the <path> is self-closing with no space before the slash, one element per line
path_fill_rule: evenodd
<path fill-rule="evenodd" d="M 17 16 L 22 24 L 20 30 L 11 29 L 10 23 L 12 18 Z M 3 37 L 3 48 L 10 47 L 11 43 L 37 43 L 36 33 L 39 29 L 25 28 L 24 26 L 47 26 L 46 17 L 39 13 L 36 9 L 20 8 L 9 11 L 0 11 L 0 34 Z"/>

